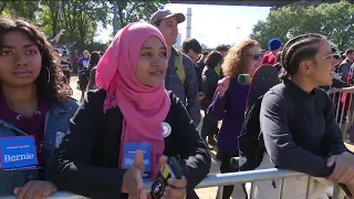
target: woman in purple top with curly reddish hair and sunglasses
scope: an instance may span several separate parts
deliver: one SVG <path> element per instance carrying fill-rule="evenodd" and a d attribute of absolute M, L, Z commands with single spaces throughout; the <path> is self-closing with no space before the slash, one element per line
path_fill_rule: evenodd
<path fill-rule="evenodd" d="M 222 63 L 221 67 L 225 77 L 219 81 L 212 103 L 207 111 L 211 119 L 222 119 L 218 136 L 218 149 L 221 154 L 221 174 L 238 171 L 237 168 L 231 167 L 230 159 L 239 156 L 237 137 L 244 121 L 249 85 L 239 84 L 237 78 L 240 74 L 252 75 L 261 63 L 260 45 L 254 40 L 247 40 L 233 45 Z M 230 198 L 232 191 L 233 186 L 225 186 L 222 198 Z"/>

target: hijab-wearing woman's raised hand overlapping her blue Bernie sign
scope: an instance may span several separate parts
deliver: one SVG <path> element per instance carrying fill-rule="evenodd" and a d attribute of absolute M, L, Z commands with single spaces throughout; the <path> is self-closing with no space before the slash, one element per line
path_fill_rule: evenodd
<path fill-rule="evenodd" d="M 129 195 L 131 199 L 146 198 L 144 189 L 143 174 L 144 174 L 144 157 L 142 150 L 136 150 L 134 164 L 124 174 L 123 188 Z"/>

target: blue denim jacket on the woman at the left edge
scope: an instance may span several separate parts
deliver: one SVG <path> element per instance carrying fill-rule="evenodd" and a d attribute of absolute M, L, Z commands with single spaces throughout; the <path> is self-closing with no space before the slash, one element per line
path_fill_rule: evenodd
<path fill-rule="evenodd" d="M 43 151 L 44 179 L 50 180 L 55 170 L 55 149 L 69 130 L 70 119 L 74 116 L 79 103 L 70 98 L 62 105 L 53 105 L 45 115 Z M 0 119 L 0 137 L 25 136 L 27 134 L 11 123 Z M 30 180 L 38 179 L 38 170 L 1 170 L 0 196 L 12 195 L 13 189 L 24 186 Z"/>

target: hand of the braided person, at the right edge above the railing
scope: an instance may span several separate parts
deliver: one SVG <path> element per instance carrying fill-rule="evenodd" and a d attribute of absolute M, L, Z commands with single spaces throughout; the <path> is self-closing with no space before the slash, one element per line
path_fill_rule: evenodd
<path fill-rule="evenodd" d="M 344 151 L 341 155 L 331 156 L 327 160 L 327 167 L 335 164 L 332 175 L 329 177 L 331 181 L 339 184 L 347 184 L 354 180 L 354 156 Z"/>

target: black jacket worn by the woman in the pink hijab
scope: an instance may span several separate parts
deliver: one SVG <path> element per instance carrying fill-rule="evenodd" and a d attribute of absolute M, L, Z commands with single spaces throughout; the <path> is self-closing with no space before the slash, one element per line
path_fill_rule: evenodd
<path fill-rule="evenodd" d="M 59 149 L 54 184 L 81 196 L 97 199 L 127 198 L 121 193 L 125 169 L 118 169 L 123 115 L 118 107 L 103 112 L 106 93 L 88 92 L 71 119 L 70 133 Z M 208 175 L 210 155 L 183 103 L 169 93 L 171 105 L 166 123 L 171 134 L 165 138 L 168 157 L 179 157 L 186 177 L 187 198 L 198 198 L 194 188 Z"/>

